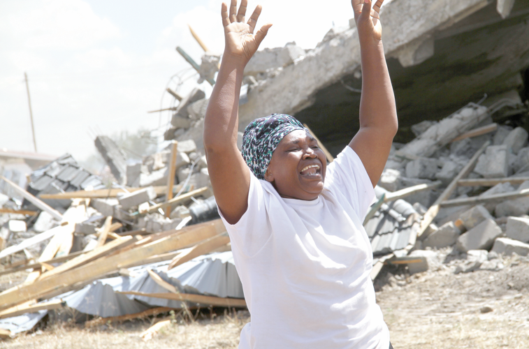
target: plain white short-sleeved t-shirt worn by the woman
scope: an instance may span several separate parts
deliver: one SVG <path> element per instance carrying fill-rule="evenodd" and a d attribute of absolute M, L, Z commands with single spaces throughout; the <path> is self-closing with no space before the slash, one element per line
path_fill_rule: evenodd
<path fill-rule="evenodd" d="M 235 225 L 223 217 L 252 315 L 240 349 L 389 348 L 362 226 L 374 198 L 351 147 L 327 166 L 317 200 L 281 198 L 251 174 L 247 211 Z"/>

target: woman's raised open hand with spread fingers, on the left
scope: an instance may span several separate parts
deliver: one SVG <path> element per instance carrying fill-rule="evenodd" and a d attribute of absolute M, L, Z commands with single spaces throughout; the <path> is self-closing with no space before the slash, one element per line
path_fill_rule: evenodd
<path fill-rule="evenodd" d="M 261 15 L 262 8 L 261 5 L 258 5 L 254 13 L 252 13 L 252 17 L 245 23 L 247 3 L 247 0 L 242 0 L 237 13 L 237 0 L 231 0 L 229 14 L 228 6 L 226 6 L 226 3 L 222 3 L 222 25 L 224 26 L 224 38 L 226 40 L 224 56 L 226 57 L 227 55 L 231 59 L 236 59 L 244 65 L 252 58 L 259 44 L 266 36 L 268 29 L 272 27 L 270 23 L 265 24 L 254 35 L 254 29 L 257 19 Z"/>

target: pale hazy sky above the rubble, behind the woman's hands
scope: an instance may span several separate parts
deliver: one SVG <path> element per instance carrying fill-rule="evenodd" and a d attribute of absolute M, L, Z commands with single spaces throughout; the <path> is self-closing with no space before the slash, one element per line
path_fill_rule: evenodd
<path fill-rule="evenodd" d="M 166 87 L 185 95 L 198 75 L 176 46 L 200 64 L 203 50 L 222 53 L 220 0 L 0 1 L 0 149 L 34 151 L 24 72 L 39 153 L 83 161 L 96 135 L 166 130 Z M 264 47 L 296 41 L 313 48 L 353 17 L 349 0 L 261 0 L 259 25 L 273 23 Z M 325 3 L 325 5 L 323 5 Z M 249 1 L 248 12 L 258 4 Z M 250 13 L 247 13 L 249 17 Z M 173 78 L 172 78 L 173 77 Z M 178 84 L 179 78 L 186 79 Z M 205 82 L 199 85 L 210 94 Z"/>

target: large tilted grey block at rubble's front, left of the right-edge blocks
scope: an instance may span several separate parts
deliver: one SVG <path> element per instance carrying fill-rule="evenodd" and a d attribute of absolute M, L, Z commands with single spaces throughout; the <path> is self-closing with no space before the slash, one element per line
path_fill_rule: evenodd
<path fill-rule="evenodd" d="M 488 250 L 494 240 L 502 235 L 502 229 L 491 219 L 476 225 L 457 239 L 457 248 L 461 252 L 470 250 Z"/>

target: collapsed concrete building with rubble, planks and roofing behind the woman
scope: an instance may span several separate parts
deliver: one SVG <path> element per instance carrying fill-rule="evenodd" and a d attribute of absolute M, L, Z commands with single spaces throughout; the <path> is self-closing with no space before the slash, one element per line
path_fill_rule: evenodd
<path fill-rule="evenodd" d="M 372 279 L 384 265 L 410 274 L 442 265 L 433 260 L 443 248 L 456 274 L 529 255 L 528 19 L 529 4 L 512 0 L 384 6 L 400 126 L 364 221 Z M 206 53 L 201 80 L 214 83 L 218 63 Z M 361 75 L 354 20 L 312 50 L 259 51 L 245 70 L 240 131 L 256 117 L 294 114 L 333 161 L 358 130 Z M 208 99 L 198 88 L 173 95 L 164 137 L 177 142 L 166 149 L 131 162 L 113 140 L 96 138 L 115 177 L 110 187 L 69 155 L 41 164 L 28 184 L 4 174 L 0 275 L 33 270 L 0 293 L 6 336 L 64 307 L 90 327 L 245 306 L 203 154 Z"/>

